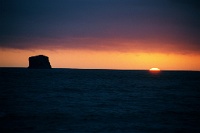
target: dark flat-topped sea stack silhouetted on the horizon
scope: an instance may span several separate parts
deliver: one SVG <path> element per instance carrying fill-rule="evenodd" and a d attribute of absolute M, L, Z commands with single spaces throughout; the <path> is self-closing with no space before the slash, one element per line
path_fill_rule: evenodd
<path fill-rule="evenodd" d="M 32 69 L 50 69 L 51 64 L 49 62 L 49 57 L 45 55 L 36 55 L 28 58 L 29 66 Z"/>

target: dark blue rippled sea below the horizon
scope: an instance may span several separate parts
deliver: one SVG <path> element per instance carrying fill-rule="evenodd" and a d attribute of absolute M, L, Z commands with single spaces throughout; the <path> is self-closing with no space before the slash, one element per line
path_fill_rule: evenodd
<path fill-rule="evenodd" d="M 200 72 L 0 69 L 0 132 L 200 132 Z"/>

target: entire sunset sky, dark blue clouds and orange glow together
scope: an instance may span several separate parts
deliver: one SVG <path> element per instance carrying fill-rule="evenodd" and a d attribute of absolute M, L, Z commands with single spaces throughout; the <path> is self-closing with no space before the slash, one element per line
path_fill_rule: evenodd
<path fill-rule="evenodd" d="M 198 0 L 1 0 L 0 66 L 200 70 Z M 17 60 L 16 60 L 17 58 Z"/>

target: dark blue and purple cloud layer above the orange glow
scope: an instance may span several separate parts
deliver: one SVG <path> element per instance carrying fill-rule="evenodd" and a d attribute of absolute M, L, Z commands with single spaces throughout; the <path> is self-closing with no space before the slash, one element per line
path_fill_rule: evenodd
<path fill-rule="evenodd" d="M 198 0 L 1 0 L 0 5 L 3 48 L 123 47 L 104 43 L 119 39 L 145 42 L 140 49 L 161 43 L 200 52 Z"/>

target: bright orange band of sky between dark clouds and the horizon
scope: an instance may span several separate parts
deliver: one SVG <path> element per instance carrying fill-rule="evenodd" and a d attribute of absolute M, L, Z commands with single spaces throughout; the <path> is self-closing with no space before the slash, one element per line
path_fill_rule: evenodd
<path fill-rule="evenodd" d="M 53 68 L 200 70 L 200 54 L 92 50 L 0 50 L 0 67 L 28 67 L 28 57 L 44 54 Z"/>

